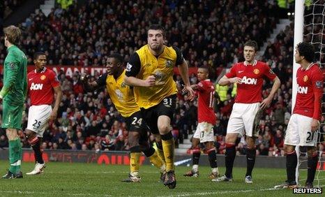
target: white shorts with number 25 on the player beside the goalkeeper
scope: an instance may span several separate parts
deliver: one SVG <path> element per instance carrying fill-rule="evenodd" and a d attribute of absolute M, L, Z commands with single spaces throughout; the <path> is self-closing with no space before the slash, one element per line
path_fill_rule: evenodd
<path fill-rule="evenodd" d="M 31 105 L 28 112 L 27 129 L 34 131 L 38 137 L 42 138 L 48 126 L 51 112 L 51 105 Z"/>

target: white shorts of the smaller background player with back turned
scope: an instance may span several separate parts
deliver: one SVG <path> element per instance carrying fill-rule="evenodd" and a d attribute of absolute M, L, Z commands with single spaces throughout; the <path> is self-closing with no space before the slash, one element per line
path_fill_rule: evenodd
<path fill-rule="evenodd" d="M 213 125 L 208 122 L 197 124 L 193 138 L 198 138 L 200 143 L 214 142 Z"/>

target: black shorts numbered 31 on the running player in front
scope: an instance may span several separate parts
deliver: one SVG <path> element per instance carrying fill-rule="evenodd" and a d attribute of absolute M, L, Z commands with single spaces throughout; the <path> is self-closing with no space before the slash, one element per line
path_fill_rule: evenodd
<path fill-rule="evenodd" d="M 146 124 L 149 126 L 151 133 L 159 134 L 158 130 L 158 117 L 161 115 L 166 115 L 170 118 L 172 124 L 174 117 L 174 110 L 176 108 L 176 94 L 167 96 L 165 99 L 162 99 L 158 105 L 155 105 L 151 108 L 144 109 L 141 108 L 142 117 L 146 121 Z"/>

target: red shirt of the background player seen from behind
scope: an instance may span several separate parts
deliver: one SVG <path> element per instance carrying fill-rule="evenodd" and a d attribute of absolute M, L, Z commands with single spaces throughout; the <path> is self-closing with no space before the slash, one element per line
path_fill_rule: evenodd
<path fill-rule="evenodd" d="M 197 106 L 197 119 L 199 122 L 216 124 L 216 115 L 213 112 L 214 86 L 210 80 L 202 80 L 197 84 L 199 96 Z"/>

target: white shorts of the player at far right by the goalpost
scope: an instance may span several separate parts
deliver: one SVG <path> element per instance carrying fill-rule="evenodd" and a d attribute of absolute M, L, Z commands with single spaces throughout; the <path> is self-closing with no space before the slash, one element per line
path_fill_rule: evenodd
<path fill-rule="evenodd" d="M 292 115 L 285 133 L 285 145 L 315 147 L 319 132 L 311 132 L 311 124 L 311 117 L 297 114 Z"/>

